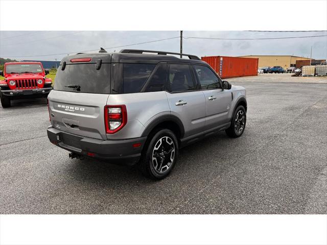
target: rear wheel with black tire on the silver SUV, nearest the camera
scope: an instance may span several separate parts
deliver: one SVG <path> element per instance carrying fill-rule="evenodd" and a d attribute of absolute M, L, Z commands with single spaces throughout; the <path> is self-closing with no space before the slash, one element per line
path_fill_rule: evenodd
<path fill-rule="evenodd" d="M 172 147 L 174 149 L 171 149 Z M 150 135 L 138 166 L 146 177 L 161 180 L 169 175 L 176 164 L 177 157 L 178 140 L 175 134 L 169 129 L 161 129 Z"/>

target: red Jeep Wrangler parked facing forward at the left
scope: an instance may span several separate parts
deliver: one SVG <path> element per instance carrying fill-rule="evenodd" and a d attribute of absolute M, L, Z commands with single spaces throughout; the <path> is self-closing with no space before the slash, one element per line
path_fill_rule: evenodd
<path fill-rule="evenodd" d="M 40 62 L 8 62 L 0 75 L 0 99 L 2 107 L 10 107 L 10 101 L 35 97 L 47 97 L 52 90 L 52 80 L 45 78 L 49 70 L 44 70 Z"/>

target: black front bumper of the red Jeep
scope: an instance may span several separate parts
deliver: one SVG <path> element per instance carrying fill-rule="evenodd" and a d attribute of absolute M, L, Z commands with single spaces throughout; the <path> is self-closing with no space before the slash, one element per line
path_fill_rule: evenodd
<path fill-rule="evenodd" d="M 15 90 L 0 90 L 1 96 L 10 97 L 11 100 L 23 99 L 26 97 L 44 97 L 50 93 L 50 88 L 35 88 L 35 89 L 15 89 Z"/>

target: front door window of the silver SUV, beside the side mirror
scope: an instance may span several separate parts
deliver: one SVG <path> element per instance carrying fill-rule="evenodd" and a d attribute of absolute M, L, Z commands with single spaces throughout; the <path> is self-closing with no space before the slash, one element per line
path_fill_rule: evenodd
<path fill-rule="evenodd" d="M 204 65 L 194 65 L 201 89 L 221 88 L 219 78 L 214 72 Z"/>

